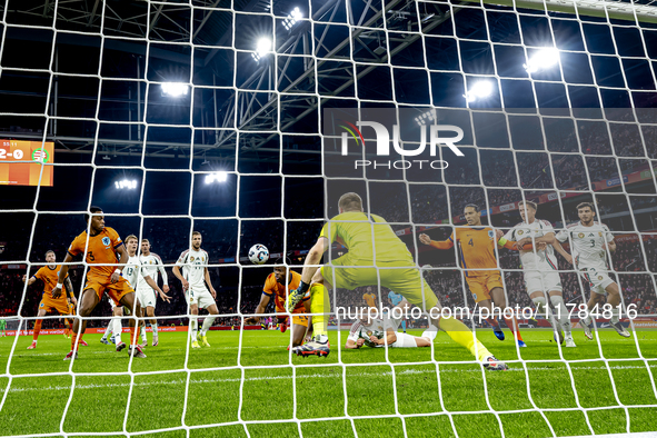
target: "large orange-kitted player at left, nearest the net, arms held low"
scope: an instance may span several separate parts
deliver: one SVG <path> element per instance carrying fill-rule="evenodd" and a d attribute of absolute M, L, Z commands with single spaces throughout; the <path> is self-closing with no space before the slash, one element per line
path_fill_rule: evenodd
<path fill-rule="evenodd" d="M 61 282 L 69 270 L 69 266 L 66 263 L 70 263 L 73 261 L 73 257 L 84 252 L 84 261 L 89 265 L 89 271 L 87 272 L 84 289 L 80 296 L 80 317 L 86 318 L 91 315 L 104 292 L 107 292 L 117 306 L 126 306 L 132 310 L 132 315 L 141 315 L 141 308 L 135 299 L 135 290 L 122 277 L 122 269 L 126 267 L 129 256 L 121 238 L 113 228 L 104 227 L 104 216 L 101 208 L 91 207 L 89 213 L 86 215 L 86 219 L 89 223 L 89 233 L 86 230 L 82 231 L 71 243 L 69 252 L 63 260 L 64 265 L 59 271 L 59 282 L 54 287 L 52 296 L 57 298 L 61 293 Z M 82 327 L 80 329 L 80 319 L 76 318 L 73 322 L 71 351 L 66 356 L 64 360 L 70 360 L 73 356 L 78 356 L 78 336 L 81 337 L 86 328 L 87 321 L 82 319 Z M 130 319 L 129 354 L 135 357 L 146 357 L 141 347 L 136 341 L 135 319 Z"/>

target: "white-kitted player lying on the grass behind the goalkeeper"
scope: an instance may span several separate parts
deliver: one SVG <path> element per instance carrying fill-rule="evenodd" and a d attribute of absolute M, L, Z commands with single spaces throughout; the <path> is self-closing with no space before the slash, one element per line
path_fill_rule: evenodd
<path fill-rule="evenodd" d="M 402 311 L 408 306 L 408 301 L 404 300 L 398 306 Z M 367 308 L 360 309 L 360 319 L 351 325 L 347 344 L 345 348 L 356 349 L 364 345 L 368 347 L 392 347 L 392 348 L 411 348 L 411 347 L 430 347 L 432 338 L 436 337 L 436 331 L 432 334 L 428 330 L 421 337 L 411 336 L 406 332 L 400 334 L 398 321 L 384 315 L 379 318 L 370 317 Z"/>

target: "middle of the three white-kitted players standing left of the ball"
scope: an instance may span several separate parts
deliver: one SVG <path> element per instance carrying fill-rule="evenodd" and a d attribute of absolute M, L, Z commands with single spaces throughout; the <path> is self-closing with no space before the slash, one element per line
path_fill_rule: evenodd
<path fill-rule="evenodd" d="M 160 298 L 169 302 L 170 297 L 167 296 L 169 292 L 169 277 L 167 270 L 162 263 L 162 259 L 155 252 L 150 251 L 150 242 L 148 239 L 141 239 L 141 255 L 139 256 L 139 262 L 141 263 L 141 271 L 148 275 L 152 280 L 158 282 L 158 272 L 162 275 L 162 292 Z M 146 316 L 149 318 L 150 327 L 152 328 L 152 346 L 157 347 L 159 344 L 158 337 L 158 320 L 156 319 L 156 306 L 158 299 L 156 291 L 146 282 L 143 277 L 137 279 L 137 288 L 135 288 L 137 299 L 141 303 L 141 308 L 145 309 Z M 146 347 L 148 340 L 146 339 L 146 323 L 141 326 L 141 347 Z"/>

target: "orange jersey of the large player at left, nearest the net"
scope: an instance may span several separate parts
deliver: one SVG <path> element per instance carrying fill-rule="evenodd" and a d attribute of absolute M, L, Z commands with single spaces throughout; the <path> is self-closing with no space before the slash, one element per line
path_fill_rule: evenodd
<path fill-rule="evenodd" d="M 87 231 L 82 231 L 69 248 L 71 256 L 78 256 L 87 250 L 86 261 L 89 263 L 89 275 L 109 277 L 112 275 L 116 265 L 119 262 L 117 258 L 117 248 L 123 242 L 119 233 L 113 228 L 106 227 L 96 236 L 89 236 L 89 246 L 87 246 Z M 107 263 L 106 266 L 94 266 Z"/>

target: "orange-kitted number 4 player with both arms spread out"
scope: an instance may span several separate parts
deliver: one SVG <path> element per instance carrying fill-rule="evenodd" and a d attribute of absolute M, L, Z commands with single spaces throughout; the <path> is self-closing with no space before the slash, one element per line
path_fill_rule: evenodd
<path fill-rule="evenodd" d="M 490 227 L 482 227 L 481 211 L 474 203 L 466 206 L 464 215 L 468 222 L 468 228 L 457 228 L 448 240 L 442 241 L 431 240 L 429 236 L 420 235 L 420 242 L 438 249 L 450 249 L 457 243 L 460 265 L 475 302 L 480 308 L 488 308 L 490 311 L 489 315 L 492 315 L 494 308 L 499 308 L 504 311 L 507 307 L 507 300 L 501 281 L 501 272 L 499 271 L 497 258 L 495 257 L 495 245 L 504 236 L 504 232 L 496 232 Z M 542 245 L 545 246 L 545 243 Z M 507 241 L 505 247 L 515 250 L 518 249 L 515 241 Z M 530 245 L 522 247 L 522 249 L 527 250 L 531 248 L 532 246 Z M 485 319 L 492 326 L 495 336 L 499 340 L 504 340 L 504 331 L 501 331 L 497 319 L 491 317 Z M 518 329 L 516 317 L 505 317 L 505 321 L 518 341 L 518 346 L 527 347 Z"/>

